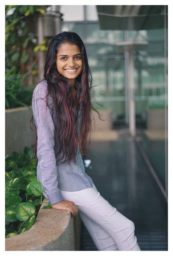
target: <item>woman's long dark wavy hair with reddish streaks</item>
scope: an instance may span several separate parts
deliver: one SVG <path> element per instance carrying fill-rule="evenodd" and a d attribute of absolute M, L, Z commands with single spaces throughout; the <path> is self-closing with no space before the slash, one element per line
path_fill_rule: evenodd
<path fill-rule="evenodd" d="M 56 67 L 56 55 L 61 44 L 64 43 L 77 45 L 82 55 L 83 69 L 76 78 L 79 91 L 77 109 L 75 108 L 72 96 L 72 84 L 58 72 Z M 94 87 L 91 87 L 91 70 L 88 65 L 84 43 L 77 33 L 61 32 L 51 39 L 45 58 L 43 80 L 47 81 L 47 96 L 50 95 L 53 99 L 53 108 L 56 113 L 54 119 L 54 150 L 56 160 L 57 162 L 61 161 L 61 163 L 70 163 L 73 160 L 76 163 L 77 147 L 79 146 L 81 154 L 85 154 L 85 145 L 90 145 L 91 143 L 91 134 L 93 126 L 95 126 L 95 120 L 91 118 L 93 117 L 91 110 L 96 111 L 91 104 L 91 88 Z M 92 93 L 94 92 L 92 91 Z M 48 103 L 48 97 L 46 97 L 46 103 Z M 97 102 L 97 104 L 99 103 Z M 79 108 L 81 109 L 81 118 L 79 131 L 77 131 Z M 99 112 L 96 112 L 99 115 L 99 119 L 101 119 Z M 30 124 L 33 121 L 34 116 L 32 116 Z M 35 158 L 37 157 L 37 137 L 34 143 L 34 153 Z"/>

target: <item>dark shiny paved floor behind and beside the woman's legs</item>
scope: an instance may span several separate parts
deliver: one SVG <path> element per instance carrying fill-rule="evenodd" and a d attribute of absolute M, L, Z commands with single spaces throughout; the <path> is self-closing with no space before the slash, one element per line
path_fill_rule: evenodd
<path fill-rule="evenodd" d="M 167 205 L 136 145 L 129 138 L 92 141 L 86 169 L 100 194 L 135 224 L 141 250 L 167 250 Z M 97 250 L 82 225 L 81 250 Z"/>

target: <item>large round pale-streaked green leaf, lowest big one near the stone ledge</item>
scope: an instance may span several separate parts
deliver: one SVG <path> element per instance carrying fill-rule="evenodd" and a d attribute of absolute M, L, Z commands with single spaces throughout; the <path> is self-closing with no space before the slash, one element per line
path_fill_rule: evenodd
<path fill-rule="evenodd" d="M 35 207 L 31 203 L 21 203 L 16 208 L 16 217 L 20 221 L 26 221 L 35 212 Z"/>

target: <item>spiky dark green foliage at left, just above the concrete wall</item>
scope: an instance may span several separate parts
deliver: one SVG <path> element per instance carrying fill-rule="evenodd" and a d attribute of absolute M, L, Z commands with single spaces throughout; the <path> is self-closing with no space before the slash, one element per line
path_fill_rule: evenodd
<path fill-rule="evenodd" d="M 34 88 L 23 86 L 23 80 L 27 74 L 21 76 L 20 73 L 11 74 L 11 72 L 12 70 L 9 70 L 6 73 L 6 108 L 17 108 L 31 105 Z"/>

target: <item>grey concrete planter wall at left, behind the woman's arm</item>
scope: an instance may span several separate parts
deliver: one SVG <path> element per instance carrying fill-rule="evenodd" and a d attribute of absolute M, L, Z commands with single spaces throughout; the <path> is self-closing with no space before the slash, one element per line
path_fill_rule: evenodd
<path fill-rule="evenodd" d="M 6 118 L 6 154 L 13 151 L 23 152 L 24 148 L 34 145 L 36 133 L 29 127 L 32 107 L 11 108 L 5 112 Z M 33 128 L 33 125 L 31 125 Z"/>

